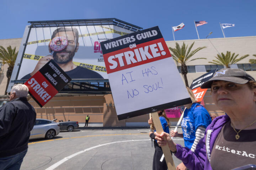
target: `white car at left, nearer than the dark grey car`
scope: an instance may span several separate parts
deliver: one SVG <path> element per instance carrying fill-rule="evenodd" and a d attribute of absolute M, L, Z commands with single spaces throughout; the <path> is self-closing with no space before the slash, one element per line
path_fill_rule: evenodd
<path fill-rule="evenodd" d="M 30 132 L 30 139 L 46 138 L 52 139 L 60 132 L 58 123 L 47 119 L 36 119 L 33 129 Z"/>

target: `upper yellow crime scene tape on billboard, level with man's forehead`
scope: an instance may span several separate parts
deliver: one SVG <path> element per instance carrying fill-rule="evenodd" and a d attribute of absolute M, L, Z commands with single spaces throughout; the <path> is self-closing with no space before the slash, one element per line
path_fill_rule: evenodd
<path fill-rule="evenodd" d="M 111 31 L 102 31 L 102 32 L 96 32 L 96 33 L 81 34 L 81 35 L 79 35 L 79 37 L 94 36 L 94 35 L 100 35 L 100 34 L 113 34 L 113 33 L 116 33 L 116 34 L 119 34 L 119 35 L 129 34 L 129 33 L 117 31 L 117 30 L 114 30 L 114 29 L 108 28 L 108 27 L 103 27 L 103 26 L 100 26 L 100 27 L 106 28 L 106 29 L 110 29 Z M 41 42 L 50 42 L 50 40 L 51 39 L 38 40 L 38 41 L 30 41 L 30 42 L 27 42 L 26 45 L 37 44 L 37 43 L 41 43 Z"/>

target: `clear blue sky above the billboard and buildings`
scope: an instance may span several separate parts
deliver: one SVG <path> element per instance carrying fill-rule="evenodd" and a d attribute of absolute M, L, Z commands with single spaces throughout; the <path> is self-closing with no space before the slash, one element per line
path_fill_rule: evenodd
<path fill-rule="evenodd" d="M 1 0 L 0 39 L 22 38 L 28 21 L 61 19 L 117 18 L 144 29 L 159 26 L 166 41 L 174 40 L 171 26 L 185 27 L 175 32 L 176 40 L 197 39 L 194 20 L 207 21 L 199 26 L 200 39 L 256 35 L 255 0 Z"/>

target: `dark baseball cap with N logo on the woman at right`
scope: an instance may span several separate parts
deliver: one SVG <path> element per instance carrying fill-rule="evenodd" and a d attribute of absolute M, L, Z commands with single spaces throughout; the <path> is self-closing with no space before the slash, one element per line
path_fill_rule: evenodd
<path fill-rule="evenodd" d="M 230 81 L 236 84 L 245 84 L 248 81 L 255 81 L 253 77 L 239 68 L 223 68 L 214 73 L 213 77 L 201 85 L 201 89 L 209 89 L 213 81 Z"/>

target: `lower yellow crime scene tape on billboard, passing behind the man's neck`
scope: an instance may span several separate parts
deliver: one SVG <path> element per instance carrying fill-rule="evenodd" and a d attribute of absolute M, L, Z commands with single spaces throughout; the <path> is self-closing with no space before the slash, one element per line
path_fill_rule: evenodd
<path fill-rule="evenodd" d="M 33 55 L 33 54 L 24 54 L 23 55 L 23 58 L 29 59 L 29 60 L 40 60 L 43 57 L 44 56 L 38 56 L 38 55 Z M 80 62 L 75 62 L 75 61 L 73 61 L 73 63 L 76 66 L 80 66 L 82 68 L 87 68 L 87 69 L 94 70 L 97 72 L 107 72 L 106 67 L 103 67 L 103 66 L 97 66 L 94 64 L 87 64 L 87 63 L 80 63 Z"/>

